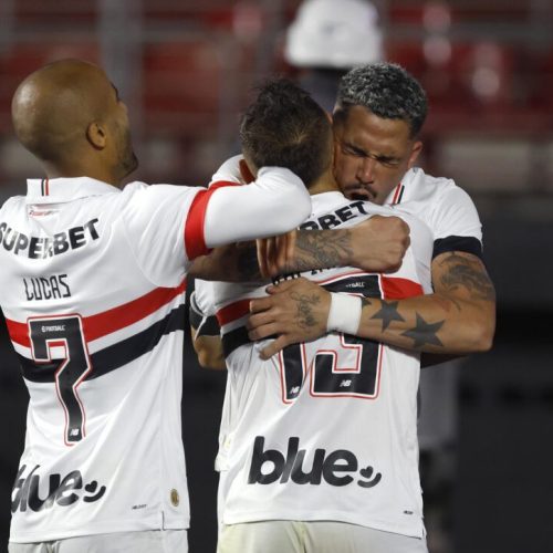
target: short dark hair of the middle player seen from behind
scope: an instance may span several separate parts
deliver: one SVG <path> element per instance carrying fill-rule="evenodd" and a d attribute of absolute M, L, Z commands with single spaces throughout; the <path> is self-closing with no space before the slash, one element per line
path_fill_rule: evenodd
<path fill-rule="evenodd" d="M 307 92 L 286 79 L 258 88 L 240 123 L 246 158 L 255 168 L 286 167 L 310 187 L 332 163 L 332 124 Z"/>

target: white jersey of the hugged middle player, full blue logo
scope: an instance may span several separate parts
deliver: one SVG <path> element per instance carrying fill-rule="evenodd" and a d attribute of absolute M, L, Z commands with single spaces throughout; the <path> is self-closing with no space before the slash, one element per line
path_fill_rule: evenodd
<path fill-rule="evenodd" d="M 301 228 L 348 227 L 396 215 L 340 192 L 312 197 Z M 397 273 L 341 268 L 303 275 L 331 291 L 398 299 L 430 291 L 431 231 L 416 218 Z M 424 535 L 418 474 L 419 356 L 340 333 L 261 361 L 250 343 L 249 300 L 264 285 L 196 283 L 205 314 L 217 314 L 228 382 L 219 439 L 219 518 L 343 521 Z"/>

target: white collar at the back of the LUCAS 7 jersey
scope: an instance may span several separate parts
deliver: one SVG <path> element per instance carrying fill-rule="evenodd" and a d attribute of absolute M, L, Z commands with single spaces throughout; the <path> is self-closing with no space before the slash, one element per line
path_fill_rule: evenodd
<path fill-rule="evenodd" d="M 119 191 L 115 186 L 90 177 L 30 178 L 27 180 L 25 201 L 27 204 L 61 204 Z"/>

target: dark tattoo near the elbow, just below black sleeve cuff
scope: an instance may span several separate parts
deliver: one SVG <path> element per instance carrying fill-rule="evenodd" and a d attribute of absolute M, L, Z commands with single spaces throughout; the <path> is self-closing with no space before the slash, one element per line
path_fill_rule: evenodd
<path fill-rule="evenodd" d="M 495 300 L 493 284 L 479 262 L 451 252 L 440 261 L 440 267 L 445 265 L 448 269 L 440 279 L 445 288 L 452 291 L 463 286 L 474 300 Z"/>

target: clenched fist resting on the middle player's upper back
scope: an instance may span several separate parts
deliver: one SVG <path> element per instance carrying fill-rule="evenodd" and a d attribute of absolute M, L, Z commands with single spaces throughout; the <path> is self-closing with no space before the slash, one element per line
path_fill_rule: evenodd
<path fill-rule="evenodd" d="M 353 267 L 384 273 L 399 269 L 410 243 L 409 226 L 403 219 L 375 215 L 351 231 Z"/>

